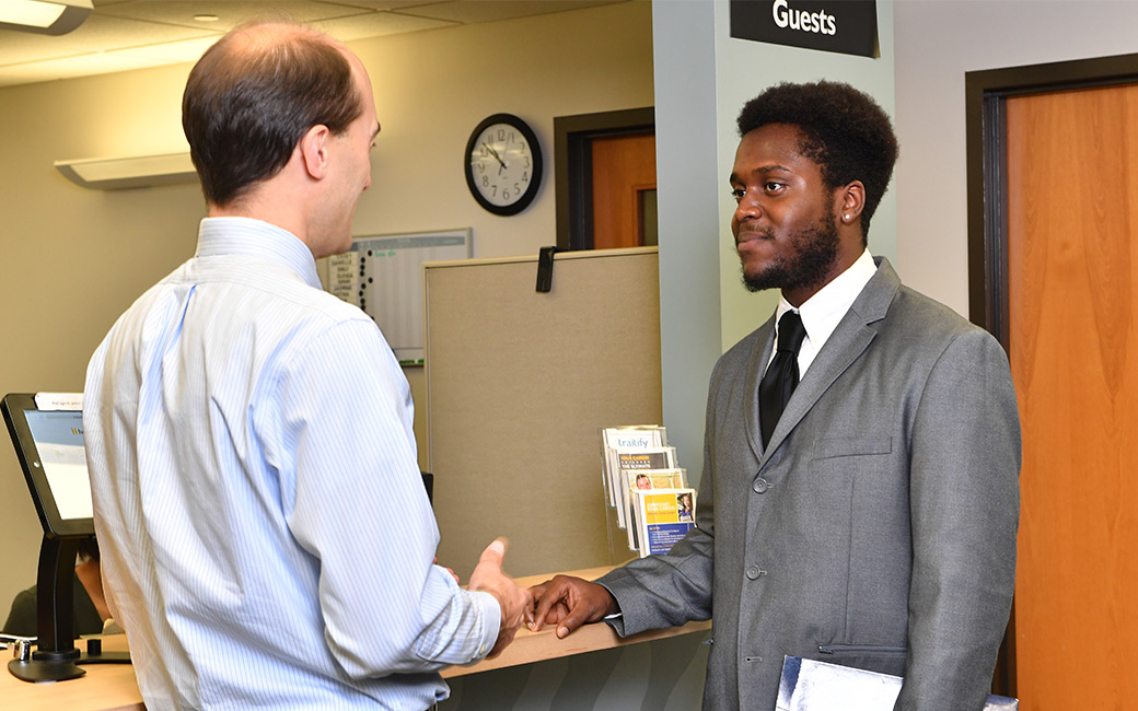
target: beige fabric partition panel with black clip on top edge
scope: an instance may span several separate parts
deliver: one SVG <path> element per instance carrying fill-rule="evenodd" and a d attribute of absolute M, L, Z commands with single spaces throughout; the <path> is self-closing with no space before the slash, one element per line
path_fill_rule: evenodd
<path fill-rule="evenodd" d="M 661 419 L 655 248 L 559 254 L 547 294 L 536 257 L 424 266 L 439 563 L 465 581 L 500 535 L 514 576 L 632 557 L 597 430 Z"/>

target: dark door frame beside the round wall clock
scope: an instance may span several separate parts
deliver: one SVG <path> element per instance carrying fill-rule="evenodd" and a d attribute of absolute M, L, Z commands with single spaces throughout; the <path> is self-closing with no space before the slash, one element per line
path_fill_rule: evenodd
<path fill-rule="evenodd" d="M 593 248 L 593 139 L 655 132 L 655 108 L 553 117 L 558 249 Z"/>

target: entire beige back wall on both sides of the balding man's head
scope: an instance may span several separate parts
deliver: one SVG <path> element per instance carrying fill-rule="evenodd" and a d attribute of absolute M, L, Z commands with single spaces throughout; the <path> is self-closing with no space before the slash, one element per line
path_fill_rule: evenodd
<path fill-rule="evenodd" d="M 653 104 L 651 8 L 642 1 L 351 44 L 369 67 L 382 124 L 357 234 L 469 226 L 477 257 L 535 254 L 555 242 L 553 117 Z M 82 389 L 86 361 L 118 314 L 192 254 L 204 214 L 196 185 L 92 191 L 51 166 L 184 150 L 188 71 L 0 89 L 0 394 Z M 546 155 L 537 200 L 514 217 L 483 210 L 462 173 L 470 131 L 498 111 L 528 121 Z M 421 370 L 409 379 L 424 402 Z M 35 580 L 41 529 L 3 443 L 0 501 L 7 614 Z"/>

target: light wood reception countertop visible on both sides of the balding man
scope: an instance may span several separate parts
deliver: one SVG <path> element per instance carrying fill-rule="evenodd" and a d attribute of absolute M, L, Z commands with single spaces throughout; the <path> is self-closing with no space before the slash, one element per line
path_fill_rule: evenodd
<path fill-rule="evenodd" d="M 604 574 L 609 568 L 592 568 L 570 571 L 569 574 L 593 579 Z M 518 578 L 522 586 L 536 585 L 550 576 Z M 566 639 L 558 639 L 554 628 L 546 627 L 531 633 L 525 627 L 518 630 L 513 643 L 497 658 L 483 660 L 469 667 L 450 667 L 443 670 L 444 678 L 472 675 L 493 669 L 516 667 L 544 660 L 596 652 L 624 645 L 650 642 L 665 637 L 701 633 L 710 629 L 711 622 L 690 622 L 683 627 L 651 630 L 633 637 L 620 638 L 608 625 L 586 625 Z M 77 642 L 76 645 L 85 644 Z M 123 635 L 105 637 L 102 648 L 107 652 L 126 648 Z M 86 675 L 69 681 L 51 684 L 28 684 L 11 676 L 7 663 L 0 673 L 0 698 L 5 709 L 28 709 L 58 711 L 142 711 L 142 697 L 134 681 L 134 668 L 130 664 L 89 664 Z"/>

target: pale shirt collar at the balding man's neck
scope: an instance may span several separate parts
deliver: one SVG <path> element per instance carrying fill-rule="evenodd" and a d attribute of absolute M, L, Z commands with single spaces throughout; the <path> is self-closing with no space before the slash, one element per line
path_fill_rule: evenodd
<path fill-rule="evenodd" d="M 296 272 L 310 287 L 322 289 L 316 259 L 300 238 L 251 217 L 205 217 L 198 228 L 195 257 L 247 255 L 275 262 Z"/>

